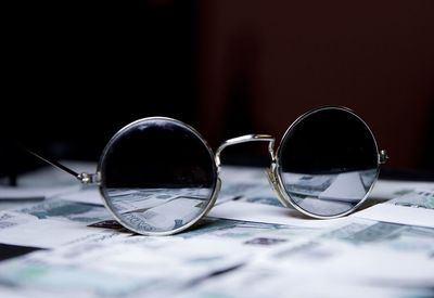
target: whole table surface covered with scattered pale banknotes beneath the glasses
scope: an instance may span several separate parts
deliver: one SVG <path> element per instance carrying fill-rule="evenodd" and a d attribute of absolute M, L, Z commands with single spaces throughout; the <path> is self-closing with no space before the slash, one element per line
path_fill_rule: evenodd
<path fill-rule="evenodd" d="M 95 187 L 50 168 L 21 177 L 21 190 L 56 193 L 0 202 L 0 295 L 434 295 L 434 211 L 390 202 L 419 195 L 434 205 L 433 182 L 380 180 L 357 212 L 316 220 L 281 206 L 263 169 L 224 167 L 221 178 L 208 217 L 150 237 L 113 221 Z"/>

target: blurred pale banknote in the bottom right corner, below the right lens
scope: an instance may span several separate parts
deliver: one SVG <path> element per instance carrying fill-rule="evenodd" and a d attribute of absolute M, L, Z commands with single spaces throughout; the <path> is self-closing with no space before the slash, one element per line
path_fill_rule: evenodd
<path fill-rule="evenodd" d="M 299 288 L 306 295 L 310 286 L 326 282 L 322 296 L 344 297 L 347 293 L 339 289 L 348 287 L 360 290 L 355 296 L 373 290 L 382 297 L 429 297 L 434 284 L 434 229 L 348 218 L 319 235 L 276 247 L 258 264 L 299 282 L 308 280 L 309 288 Z"/>

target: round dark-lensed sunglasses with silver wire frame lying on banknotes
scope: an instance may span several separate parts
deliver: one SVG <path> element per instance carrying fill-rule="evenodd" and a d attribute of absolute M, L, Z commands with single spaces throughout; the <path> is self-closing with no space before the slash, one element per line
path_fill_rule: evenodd
<path fill-rule="evenodd" d="M 268 142 L 266 170 L 285 207 L 320 219 L 345 216 L 368 197 L 387 159 L 368 125 L 341 106 L 298 117 L 275 152 L 275 138 L 248 134 L 213 151 L 192 127 L 171 118 L 133 121 L 106 144 L 97 173 L 77 173 L 99 185 L 105 207 L 125 228 L 143 235 L 170 235 L 192 226 L 214 206 L 220 191 L 220 155 L 231 145 Z"/>

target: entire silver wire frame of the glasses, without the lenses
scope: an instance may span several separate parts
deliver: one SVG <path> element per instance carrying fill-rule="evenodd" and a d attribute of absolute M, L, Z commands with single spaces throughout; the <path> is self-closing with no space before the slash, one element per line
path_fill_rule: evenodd
<path fill-rule="evenodd" d="M 365 195 L 365 197 L 358 203 L 356 204 L 353 208 L 350 208 L 349 210 L 340 213 L 340 215 L 335 215 L 335 216 L 318 216 L 315 213 L 311 213 L 309 211 L 304 210 L 303 208 L 301 208 L 291 197 L 291 195 L 285 191 L 284 185 L 283 185 L 283 181 L 282 178 L 280 176 L 280 163 L 279 163 L 279 156 L 281 154 L 281 147 L 282 147 L 282 142 L 283 140 L 285 140 L 285 138 L 289 135 L 289 133 L 291 133 L 291 131 L 306 117 L 308 117 L 309 115 L 320 112 L 320 111 L 324 111 L 324 109 L 341 109 L 344 111 L 346 113 L 352 114 L 353 116 L 357 117 L 362 124 L 365 124 L 365 126 L 367 127 L 367 129 L 369 130 L 369 132 L 372 135 L 372 140 L 374 142 L 376 152 L 378 152 L 378 163 L 376 163 L 376 174 L 375 174 L 375 179 L 374 182 L 372 183 L 372 185 L 370 186 L 370 189 L 368 190 L 367 194 Z M 138 231 L 135 228 L 129 226 L 128 223 L 125 223 L 124 220 L 118 217 L 116 215 L 116 212 L 114 211 L 114 208 L 112 208 L 110 202 L 107 200 L 108 195 L 105 193 L 105 186 L 104 186 L 104 174 L 103 174 L 103 169 L 104 169 L 104 159 L 105 156 L 108 152 L 108 150 L 111 148 L 111 146 L 113 145 L 114 142 L 116 142 L 118 140 L 118 138 L 120 135 L 123 135 L 127 130 L 129 129 L 133 129 L 135 127 L 144 124 L 146 121 L 150 120 L 164 120 L 164 121 L 170 121 L 170 122 L 175 122 L 178 126 L 189 130 L 190 132 L 192 132 L 196 138 L 199 138 L 199 140 L 204 144 L 204 146 L 206 147 L 206 150 L 209 153 L 209 157 L 212 158 L 212 160 L 214 160 L 213 163 L 213 168 L 216 174 L 216 181 L 214 184 L 214 190 L 213 190 L 213 194 L 212 197 L 206 206 L 206 208 L 192 221 L 190 221 L 189 223 L 176 229 L 176 230 L 171 230 L 171 231 L 167 231 L 167 232 L 143 232 L 143 231 Z M 36 157 L 51 164 L 52 166 L 74 176 L 76 179 L 78 179 L 81 183 L 85 184 L 98 184 L 99 185 L 99 190 L 101 193 L 101 196 L 103 197 L 103 204 L 104 206 L 111 211 L 111 213 L 113 215 L 113 217 L 122 224 L 124 225 L 126 229 L 142 234 L 142 235 L 152 235 L 152 236 L 163 236 L 163 235 L 171 235 L 171 234 L 176 234 L 179 233 L 181 231 L 184 231 L 189 228 L 191 228 L 192 225 L 194 225 L 199 220 L 201 220 L 203 217 L 205 217 L 209 210 L 212 209 L 212 207 L 215 205 L 218 193 L 220 191 L 221 187 L 221 180 L 219 177 L 220 173 L 220 156 L 222 151 L 228 147 L 228 146 L 232 146 L 232 145 L 237 145 L 237 144 L 241 144 L 241 143 L 247 143 L 247 142 L 269 142 L 268 144 L 268 153 L 270 154 L 271 157 L 271 165 L 270 168 L 266 169 L 266 173 L 267 173 L 267 178 L 270 182 L 270 185 L 272 186 L 272 189 L 275 189 L 279 200 L 282 203 L 283 206 L 285 207 L 293 207 L 295 209 L 297 209 L 298 211 L 301 211 L 304 215 L 307 215 L 309 217 L 312 218 L 319 218 L 319 219 L 331 219 L 331 218 L 339 218 L 339 217 L 343 217 L 345 215 L 348 215 L 350 212 L 353 212 L 355 209 L 357 209 L 368 197 L 369 193 L 372 191 L 373 185 L 375 184 L 375 181 L 378 180 L 378 176 L 380 172 L 380 165 L 384 164 L 387 160 L 387 154 L 384 150 L 379 152 L 379 147 L 378 147 L 378 143 L 376 140 L 372 133 L 372 130 L 369 128 L 369 126 L 367 125 L 367 122 L 361 119 L 357 114 L 355 114 L 352 109 L 343 107 L 343 106 L 323 106 L 323 107 L 318 107 L 318 108 L 314 108 L 308 111 L 307 113 L 303 114 L 302 116 L 299 116 L 295 121 L 293 121 L 291 124 L 291 126 L 286 129 L 285 133 L 283 134 L 281 142 L 279 144 L 278 150 L 275 153 L 275 143 L 276 143 L 276 139 L 269 134 L 246 134 L 246 135 L 242 135 L 242 137 L 238 137 L 238 138 L 233 138 L 230 140 L 225 141 L 216 151 L 216 154 L 213 154 L 213 151 L 210 148 L 210 146 L 207 144 L 207 142 L 205 141 L 204 138 L 202 138 L 202 135 L 191 126 L 173 119 L 173 118 L 167 118 L 167 117 L 149 117 L 149 118 L 142 118 L 139 120 L 136 120 L 127 126 L 125 126 L 124 128 L 122 128 L 118 132 L 116 132 L 112 139 L 108 141 L 108 143 L 106 144 L 106 146 L 104 147 L 104 151 L 101 154 L 100 160 L 98 163 L 98 167 L 97 167 L 97 172 L 93 173 L 76 173 L 74 170 L 59 164 L 55 161 L 50 161 L 43 157 L 41 157 L 40 155 L 28 151 L 30 154 L 35 155 Z"/>

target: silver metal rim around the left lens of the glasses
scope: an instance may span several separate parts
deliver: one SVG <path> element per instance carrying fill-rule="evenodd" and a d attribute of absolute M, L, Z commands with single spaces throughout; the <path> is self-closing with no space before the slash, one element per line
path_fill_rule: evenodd
<path fill-rule="evenodd" d="M 108 152 L 108 150 L 112 147 L 112 145 L 119 139 L 120 135 L 123 135 L 126 131 L 133 129 L 135 127 L 137 127 L 138 125 L 141 125 L 143 122 L 150 121 L 150 120 L 164 120 L 164 121 L 168 121 L 168 122 L 174 122 L 189 131 L 191 131 L 195 137 L 199 138 L 199 140 L 204 144 L 204 146 L 206 147 L 206 150 L 209 153 L 209 159 L 212 160 L 213 164 L 213 171 L 216 176 L 216 181 L 214 183 L 214 190 L 213 190 L 213 194 L 212 197 L 208 202 L 208 204 L 206 205 L 205 209 L 193 220 L 191 220 L 189 223 L 171 230 L 171 231 L 165 231 L 165 232 L 143 232 L 143 231 L 139 231 L 133 226 L 130 226 L 130 224 L 128 224 L 127 222 L 125 222 L 114 210 L 114 208 L 111 206 L 110 202 L 108 202 L 108 195 L 105 193 L 105 186 L 104 186 L 104 161 L 105 161 L 105 157 L 106 154 Z M 97 167 L 97 176 L 98 176 L 98 185 L 99 185 L 99 190 L 100 190 L 100 194 L 103 198 L 103 204 L 104 206 L 110 210 L 110 212 L 112 213 L 112 216 L 117 220 L 118 223 L 120 223 L 123 226 L 125 226 L 126 229 L 128 229 L 129 231 L 132 231 L 135 233 L 141 234 L 141 235 L 148 235 L 148 236 L 166 236 L 166 235 L 171 235 L 171 234 L 176 234 L 179 232 L 182 232 L 189 228 L 191 228 L 193 224 L 195 224 L 199 220 L 201 220 L 203 217 L 205 217 L 205 215 L 210 210 L 210 208 L 214 206 L 218 193 L 220 191 L 220 186 L 221 186 L 221 182 L 219 179 L 219 170 L 218 170 L 218 166 L 215 164 L 215 157 L 214 157 L 214 153 L 210 148 L 210 146 L 208 145 L 208 143 L 205 141 L 205 139 L 202 138 L 202 135 L 191 126 L 173 119 L 173 118 L 168 118 L 168 117 L 148 117 L 148 118 L 142 118 L 142 119 L 138 119 L 133 122 L 130 122 L 129 125 L 123 127 L 119 131 L 117 131 L 112 139 L 108 141 L 108 143 L 105 145 L 103 153 L 100 157 L 100 160 L 98 163 L 98 167 Z"/>

